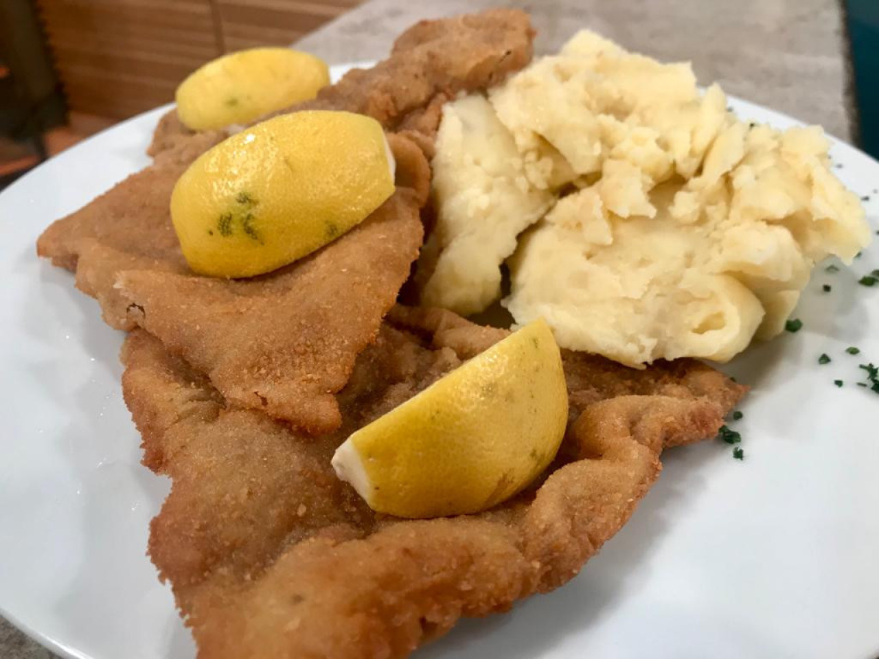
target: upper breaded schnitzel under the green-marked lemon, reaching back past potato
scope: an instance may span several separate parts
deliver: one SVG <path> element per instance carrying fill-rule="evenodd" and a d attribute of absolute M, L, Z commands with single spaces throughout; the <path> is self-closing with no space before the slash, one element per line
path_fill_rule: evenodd
<path fill-rule="evenodd" d="M 149 329 L 207 373 L 229 402 L 309 432 L 333 430 L 340 423 L 334 395 L 418 256 L 418 210 L 430 181 L 422 151 L 441 101 L 494 82 L 531 54 L 530 24 L 518 11 L 413 30 L 388 60 L 352 71 L 297 106 L 366 112 L 401 130 L 389 135 L 395 196 L 323 250 L 253 279 L 193 275 L 171 226 L 169 199 L 178 176 L 218 139 L 206 133 L 176 141 L 153 166 L 56 221 L 40 236 L 38 252 L 76 270 L 77 286 L 98 298 L 106 322 Z"/>

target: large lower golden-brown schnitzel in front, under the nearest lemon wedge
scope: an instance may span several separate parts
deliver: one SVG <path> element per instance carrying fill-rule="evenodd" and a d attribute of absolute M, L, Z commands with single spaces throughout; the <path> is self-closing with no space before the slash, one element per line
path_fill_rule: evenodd
<path fill-rule="evenodd" d="M 618 531 L 659 453 L 713 437 L 744 388 L 698 362 L 634 371 L 563 357 L 574 420 L 540 482 L 490 511 L 370 511 L 330 459 L 347 434 L 505 336 L 396 308 L 339 395 L 341 429 L 305 438 L 222 397 L 145 332 L 123 353 L 150 467 L 171 475 L 149 553 L 200 657 L 396 657 L 461 617 L 552 590 Z"/>

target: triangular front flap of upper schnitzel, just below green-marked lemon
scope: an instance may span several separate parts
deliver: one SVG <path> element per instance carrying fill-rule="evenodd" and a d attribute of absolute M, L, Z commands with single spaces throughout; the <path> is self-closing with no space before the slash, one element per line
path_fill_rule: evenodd
<path fill-rule="evenodd" d="M 418 207 L 398 189 L 347 235 L 268 278 L 127 271 L 117 286 L 130 316 L 229 402 L 331 431 L 341 421 L 334 394 L 418 256 Z"/>

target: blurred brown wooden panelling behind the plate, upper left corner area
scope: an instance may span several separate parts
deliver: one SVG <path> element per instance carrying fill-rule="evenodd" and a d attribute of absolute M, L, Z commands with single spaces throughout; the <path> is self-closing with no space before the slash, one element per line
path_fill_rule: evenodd
<path fill-rule="evenodd" d="M 360 0 L 37 0 L 71 112 L 124 119 L 167 103 L 219 54 L 287 46 Z"/>

